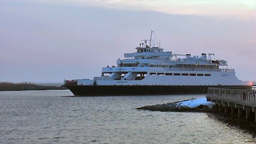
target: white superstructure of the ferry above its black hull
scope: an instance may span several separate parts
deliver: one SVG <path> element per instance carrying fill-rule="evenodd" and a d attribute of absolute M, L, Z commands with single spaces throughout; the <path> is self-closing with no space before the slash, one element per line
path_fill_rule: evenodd
<path fill-rule="evenodd" d="M 174 54 L 152 46 L 151 36 L 144 41 L 135 48 L 136 52 L 118 59 L 117 66 L 102 68 L 100 77 L 77 79 L 77 85 L 251 85 L 240 81 L 235 70 L 227 68 L 227 61 L 215 60 L 214 54 Z"/>

